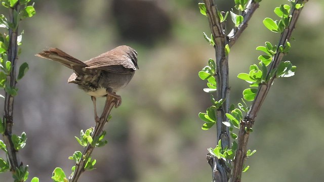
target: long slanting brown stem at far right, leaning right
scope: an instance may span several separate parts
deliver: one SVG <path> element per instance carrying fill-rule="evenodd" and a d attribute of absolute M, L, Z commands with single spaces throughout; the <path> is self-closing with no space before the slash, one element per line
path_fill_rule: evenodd
<path fill-rule="evenodd" d="M 303 1 L 297 1 L 297 3 L 300 4 L 305 4 L 307 3 L 308 0 L 303 0 Z M 284 30 L 284 32 L 281 33 L 280 39 L 279 39 L 279 44 L 277 46 L 277 52 L 273 57 L 271 66 L 268 70 L 268 75 L 269 73 L 278 66 L 278 64 L 281 62 L 282 58 L 285 56 L 285 53 L 282 53 L 279 51 L 279 46 L 285 46 L 287 41 L 291 38 L 291 34 L 295 28 L 296 22 L 298 20 L 298 17 L 300 15 L 300 12 L 302 11 L 302 8 L 296 9 L 294 8 L 292 10 L 291 16 L 291 22 L 288 28 Z M 268 82 L 263 83 L 259 86 L 257 95 L 255 97 L 254 102 L 251 105 L 251 108 L 247 115 L 245 116 L 244 120 L 240 122 L 240 128 L 239 128 L 239 133 L 238 133 L 238 146 L 237 146 L 237 151 L 235 155 L 235 161 L 234 161 L 234 167 L 233 167 L 233 174 L 231 177 L 232 182 L 240 181 L 241 174 L 242 174 L 242 169 L 244 165 L 244 161 L 247 158 L 247 144 L 249 140 L 249 134 L 250 134 L 250 128 L 252 128 L 254 124 L 254 120 L 261 108 L 261 105 L 267 96 L 270 86 L 272 85 L 273 81 L 275 79 L 275 76 L 273 76 Z"/>

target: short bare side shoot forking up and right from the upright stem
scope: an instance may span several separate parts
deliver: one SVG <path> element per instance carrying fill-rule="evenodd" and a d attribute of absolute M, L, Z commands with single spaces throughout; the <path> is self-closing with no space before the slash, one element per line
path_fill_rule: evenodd
<path fill-rule="evenodd" d="M 232 30 L 227 35 L 229 37 L 228 40 L 229 47 L 232 47 L 232 45 L 235 43 L 235 41 L 238 39 L 241 33 L 248 27 L 248 22 L 250 21 L 252 15 L 258 8 L 259 8 L 259 3 L 256 3 L 253 0 L 249 4 L 247 9 L 242 13 L 242 16 L 244 18 L 243 22 L 238 27 L 232 28 Z"/>

